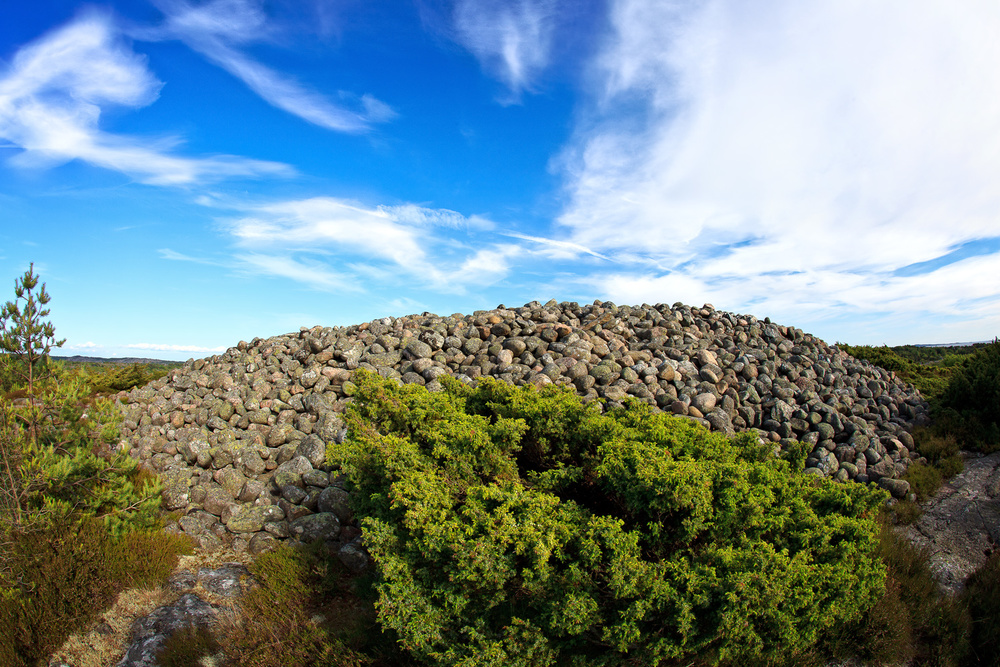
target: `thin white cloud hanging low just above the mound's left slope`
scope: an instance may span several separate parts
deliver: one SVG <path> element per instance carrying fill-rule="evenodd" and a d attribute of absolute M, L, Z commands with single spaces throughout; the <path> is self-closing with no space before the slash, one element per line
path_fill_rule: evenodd
<path fill-rule="evenodd" d="M 360 290 L 402 281 L 463 293 L 469 285 L 502 280 L 511 270 L 510 260 L 524 254 L 512 244 L 469 249 L 463 239 L 489 230 L 492 223 L 447 209 L 365 207 L 313 197 L 243 210 L 244 217 L 222 223 L 236 244 L 250 251 L 236 254 L 241 268 L 316 289 Z"/>

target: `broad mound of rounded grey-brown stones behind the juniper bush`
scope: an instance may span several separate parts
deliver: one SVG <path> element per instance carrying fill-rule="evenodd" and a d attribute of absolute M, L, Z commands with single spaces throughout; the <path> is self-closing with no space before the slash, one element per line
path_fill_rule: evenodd
<path fill-rule="evenodd" d="M 120 447 L 164 480 L 164 507 L 180 515 L 169 529 L 203 548 L 325 539 L 360 569 L 360 530 L 324 461 L 326 443 L 345 435 L 339 413 L 359 368 L 432 391 L 443 375 L 494 376 L 572 387 L 605 409 L 634 397 L 727 434 L 806 442 L 813 474 L 878 482 L 897 497 L 916 456 L 907 429 L 927 418 L 893 373 L 766 318 L 550 301 L 241 341 L 119 394 Z"/>

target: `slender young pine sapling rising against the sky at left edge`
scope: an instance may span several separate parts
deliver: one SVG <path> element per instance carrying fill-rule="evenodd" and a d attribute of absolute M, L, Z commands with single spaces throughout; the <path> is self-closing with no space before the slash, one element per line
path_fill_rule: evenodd
<path fill-rule="evenodd" d="M 57 341 L 55 327 L 51 322 L 42 321 L 49 316 L 45 306 L 51 297 L 45 291 L 45 283 L 36 292 L 37 288 L 38 276 L 32 262 L 24 276 L 14 281 L 14 300 L 4 304 L 0 311 L 0 351 L 3 352 L 0 358 L 7 372 L 25 383 L 28 434 L 32 442 L 38 437 L 36 385 L 46 377 L 44 368 L 49 352 L 66 342 L 65 338 Z"/>

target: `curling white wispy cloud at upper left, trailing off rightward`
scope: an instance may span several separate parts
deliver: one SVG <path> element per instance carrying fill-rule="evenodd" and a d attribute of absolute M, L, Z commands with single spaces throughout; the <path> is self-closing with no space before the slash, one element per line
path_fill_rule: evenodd
<path fill-rule="evenodd" d="M 287 165 L 236 156 L 182 157 L 174 152 L 176 139 L 100 129 L 105 108 L 144 107 L 160 86 L 109 16 L 85 13 L 21 48 L 0 74 L 0 139 L 21 149 L 10 160 L 15 165 L 82 160 L 155 185 L 291 173 Z"/>

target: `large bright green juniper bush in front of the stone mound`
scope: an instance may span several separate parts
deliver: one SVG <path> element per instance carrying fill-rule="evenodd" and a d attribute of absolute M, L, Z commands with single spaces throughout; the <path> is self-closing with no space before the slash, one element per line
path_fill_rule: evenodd
<path fill-rule="evenodd" d="M 349 438 L 382 624 L 443 665 L 769 661 L 883 590 L 884 493 L 641 403 L 357 373 Z"/>

